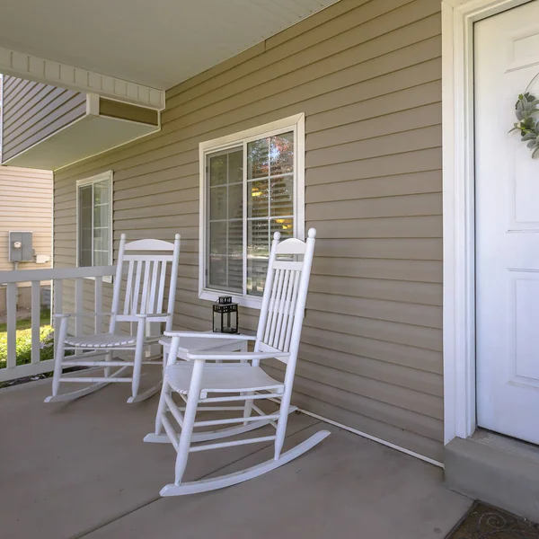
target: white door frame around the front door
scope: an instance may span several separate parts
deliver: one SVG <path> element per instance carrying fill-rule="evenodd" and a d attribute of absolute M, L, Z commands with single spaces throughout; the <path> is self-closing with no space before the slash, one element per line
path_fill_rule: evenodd
<path fill-rule="evenodd" d="M 444 443 L 475 410 L 473 22 L 532 0 L 442 0 Z"/>

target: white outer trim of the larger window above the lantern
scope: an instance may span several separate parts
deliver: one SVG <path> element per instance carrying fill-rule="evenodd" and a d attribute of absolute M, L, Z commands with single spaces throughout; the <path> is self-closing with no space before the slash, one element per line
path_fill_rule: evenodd
<path fill-rule="evenodd" d="M 206 186 L 206 158 L 208 154 L 225 150 L 229 147 L 238 146 L 243 142 L 251 142 L 258 138 L 270 137 L 286 131 L 294 131 L 295 152 L 294 170 L 296 175 L 294 197 L 294 237 L 305 239 L 305 114 L 296 114 L 284 119 L 278 119 L 270 123 L 245 129 L 232 135 L 214 138 L 199 144 L 199 179 L 200 179 L 200 202 L 199 202 L 199 298 L 216 301 L 218 296 L 232 296 L 233 301 L 245 307 L 260 309 L 261 297 L 243 296 L 226 292 L 219 292 L 205 287 L 206 283 L 206 236 L 208 234 L 207 221 L 207 196 Z M 246 156 L 243 156 L 243 160 Z M 244 204 L 245 207 L 245 204 Z M 78 251 L 77 251 L 78 252 Z"/>

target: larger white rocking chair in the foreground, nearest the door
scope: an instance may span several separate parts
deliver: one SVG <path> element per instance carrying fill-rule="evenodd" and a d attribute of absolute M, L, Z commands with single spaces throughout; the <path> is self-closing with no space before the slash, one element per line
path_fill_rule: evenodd
<path fill-rule="evenodd" d="M 245 335 L 234 336 L 234 338 L 254 340 L 253 352 L 193 351 L 187 356 L 190 361 L 178 362 L 176 355 L 181 342 L 182 346 L 185 346 L 195 337 L 197 340 L 200 338 L 230 339 L 230 335 L 165 331 L 165 335 L 172 337 L 171 349 L 155 419 L 155 433 L 145 437 L 147 442 L 172 442 L 177 452 L 175 482 L 163 487 L 161 496 L 178 496 L 222 489 L 247 481 L 287 464 L 329 436 L 329 431 L 321 430 L 286 453 L 281 453 L 286 436 L 288 414 L 291 411 L 290 398 L 296 372 L 297 351 L 313 261 L 315 235 L 316 231 L 312 228 L 309 230 L 306 242 L 288 239 L 279 243 L 280 234 L 275 234 L 256 338 Z M 303 255 L 303 261 L 294 261 L 294 255 L 297 255 L 296 257 Z M 285 260 L 281 260 L 283 258 Z M 287 366 L 284 383 L 271 378 L 261 369 L 261 360 L 270 358 L 277 358 Z M 185 406 L 179 407 L 172 399 L 172 393 L 179 393 Z M 278 411 L 265 413 L 255 404 L 255 401 L 259 402 L 260 399 L 277 401 Z M 230 404 L 234 402 L 245 403 L 242 406 L 231 406 Z M 225 405 L 217 404 L 216 406 L 216 403 L 225 403 Z M 196 420 L 197 412 L 201 411 L 240 411 L 243 413 L 239 418 Z M 172 417 L 169 416 L 169 412 Z M 180 434 L 173 428 L 172 419 L 180 425 Z M 234 427 L 234 423 L 240 423 L 240 425 Z M 225 425 L 226 428 L 193 432 L 195 428 L 217 425 Z M 273 426 L 276 433 L 272 436 L 244 437 L 220 443 L 199 443 L 240 435 L 265 425 Z M 268 462 L 217 478 L 181 482 L 188 456 L 192 452 L 268 441 L 274 442 L 275 447 L 274 458 Z"/>

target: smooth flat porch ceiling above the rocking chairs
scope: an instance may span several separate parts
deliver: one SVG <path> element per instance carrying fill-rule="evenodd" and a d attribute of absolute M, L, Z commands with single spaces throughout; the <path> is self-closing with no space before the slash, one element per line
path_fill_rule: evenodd
<path fill-rule="evenodd" d="M 7 0 L 0 47 L 166 90 L 338 0 Z"/>

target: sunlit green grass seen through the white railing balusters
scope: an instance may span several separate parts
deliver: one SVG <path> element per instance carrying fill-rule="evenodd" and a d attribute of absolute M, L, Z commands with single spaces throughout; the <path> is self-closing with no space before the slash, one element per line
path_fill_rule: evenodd
<path fill-rule="evenodd" d="M 52 359 L 54 357 L 54 345 L 52 327 L 50 324 L 49 311 L 41 312 L 40 316 L 40 359 Z M 31 320 L 17 321 L 17 365 L 25 365 L 31 362 Z M 0 368 L 4 368 L 7 362 L 7 326 L 0 324 Z"/>

